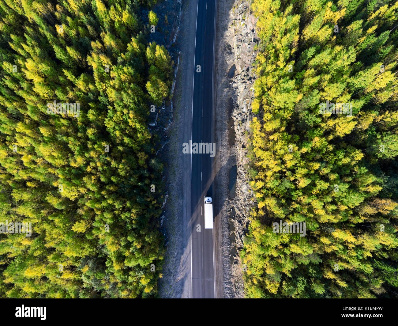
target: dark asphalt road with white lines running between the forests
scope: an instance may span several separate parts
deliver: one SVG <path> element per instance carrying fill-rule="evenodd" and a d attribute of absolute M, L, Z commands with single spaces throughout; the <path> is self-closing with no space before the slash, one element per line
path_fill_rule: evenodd
<path fill-rule="evenodd" d="M 195 72 L 192 97 L 192 143 L 213 143 L 213 59 L 215 0 L 198 0 Z M 195 22 L 193 22 L 194 24 Z M 201 66 L 201 72 L 197 71 Z M 213 197 L 213 157 L 191 156 L 192 297 L 215 297 L 213 229 L 205 229 L 204 197 Z M 201 231 L 198 232 L 198 225 Z"/>

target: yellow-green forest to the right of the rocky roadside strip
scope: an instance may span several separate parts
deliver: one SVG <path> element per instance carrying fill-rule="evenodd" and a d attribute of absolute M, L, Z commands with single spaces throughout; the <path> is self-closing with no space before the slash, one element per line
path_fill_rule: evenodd
<path fill-rule="evenodd" d="M 252 10 L 246 297 L 398 298 L 398 2 L 254 0 Z M 273 232 L 280 220 L 305 222 L 306 235 Z"/>

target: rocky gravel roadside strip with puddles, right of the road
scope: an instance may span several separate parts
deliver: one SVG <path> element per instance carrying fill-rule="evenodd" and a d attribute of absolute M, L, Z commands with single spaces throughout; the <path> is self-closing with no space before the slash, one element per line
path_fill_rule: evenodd
<path fill-rule="evenodd" d="M 247 145 L 258 43 L 251 1 L 218 0 L 215 45 L 215 243 L 217 297 L 242 298 L 240 251 L 254 195 Z M 217 214 L 217 215 L 216 215 Z M 221 268 L 220 268 L 221 267 Z M 220 282 L 222 281 L 222 282 Z"/>

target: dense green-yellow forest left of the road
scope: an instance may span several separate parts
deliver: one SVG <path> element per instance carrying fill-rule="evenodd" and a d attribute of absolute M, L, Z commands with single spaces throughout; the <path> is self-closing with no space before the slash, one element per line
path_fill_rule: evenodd
<path fill-rule="evenodd" d="M 156 0 L 0 0 L 0 297 L 156 297 L 172 61 Z M 27 225 L 27 224 L 26 224 Z"/>

